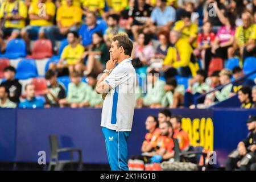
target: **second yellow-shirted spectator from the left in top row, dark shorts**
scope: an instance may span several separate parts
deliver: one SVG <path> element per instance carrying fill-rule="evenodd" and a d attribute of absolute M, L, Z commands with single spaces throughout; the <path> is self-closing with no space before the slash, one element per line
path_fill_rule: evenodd
<path fill-rule="evenodd" d="M 21 31 L 22 38 L 26 41 L 30 51 L 30 39 L 44 38 L 46 27 L 52 26 L 55 15 L 55 5 L 49 0 L 35 0 L 28 9 L 30 25 Z"/>

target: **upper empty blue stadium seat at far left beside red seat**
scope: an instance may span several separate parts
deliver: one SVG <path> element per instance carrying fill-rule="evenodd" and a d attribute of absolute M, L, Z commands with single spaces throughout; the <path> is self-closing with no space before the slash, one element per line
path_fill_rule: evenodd
<path fill-rule="evenodd" d="M 1 57 L 8 59 L 17 59 L 19 57 L 26 57 L 26 43 L 23 39 L 12 39 L 9 40 L 6 46 L 5 54 Z"/>

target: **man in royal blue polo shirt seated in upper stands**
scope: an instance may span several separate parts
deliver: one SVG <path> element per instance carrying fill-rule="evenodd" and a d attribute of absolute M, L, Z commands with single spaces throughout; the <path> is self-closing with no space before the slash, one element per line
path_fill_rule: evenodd
<path fill-rule="evenodd" d="M 86 24 L 82 24 L 79 30 L 79 35 L 82 39 L 82 45 L 85 48 L 90 48 L 92 45 L 92 35 L 95 32 L 102 32 L 104 34 L 107 26 L 103 21 L 97 22 L 97 16 L 93 12 L 87 14 L 85 18 Z"/>

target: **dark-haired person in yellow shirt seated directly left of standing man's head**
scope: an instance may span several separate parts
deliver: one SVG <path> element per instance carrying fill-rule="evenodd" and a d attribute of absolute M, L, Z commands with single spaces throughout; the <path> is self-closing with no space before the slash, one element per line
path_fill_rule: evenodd
<path fill-rule="evenodd" d="M 79 35 L 75 31 L 69 32 L 67 39 L 68 46 L 66 46 L 61 53 L 57 69 L 59 72 L 63 72 L 63 69 L 68 67 L 69 74 L 71 74 L 75 71 L 76 65 L 80 64 L 84 47 L 79 43 Z"/>

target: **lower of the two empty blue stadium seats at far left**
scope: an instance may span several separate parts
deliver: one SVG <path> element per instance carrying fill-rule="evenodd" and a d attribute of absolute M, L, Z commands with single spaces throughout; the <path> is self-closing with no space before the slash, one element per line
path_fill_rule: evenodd
<path fill-rule="evenodd" d="M 38 70 L 34 59 L 22 59 L 19 61 L 16 69 L 16 78 L 26 80 L 36 76 L 38 76 Z"/>

